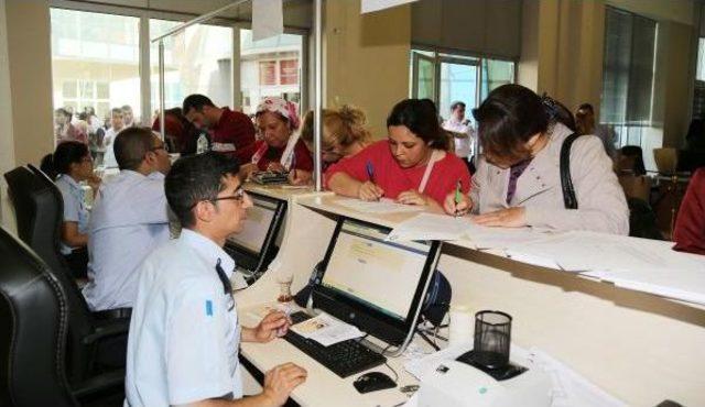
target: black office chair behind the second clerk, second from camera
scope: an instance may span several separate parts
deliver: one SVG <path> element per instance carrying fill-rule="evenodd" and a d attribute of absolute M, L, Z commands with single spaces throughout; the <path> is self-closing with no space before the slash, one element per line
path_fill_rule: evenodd
<path fill-rule="evenodd" d="M 70 314 L 66 352 L 69 383 L 80 387 L 97 372 L 122 369 L 129 317 L 120 317 L 121 312 L 91 312 L 73 280 L 58 251 L 58 231 L 63 220 L 61 191 L 46 176 L 25 167 L 18 167 L 4 176 L 14 204 L 20 239 L 44 260 L 48 273 L 66 296 Z"/>

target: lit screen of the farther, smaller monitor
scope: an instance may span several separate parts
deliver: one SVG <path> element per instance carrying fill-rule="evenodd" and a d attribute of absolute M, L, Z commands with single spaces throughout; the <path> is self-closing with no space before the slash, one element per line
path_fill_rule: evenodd
<path fill-rule="evenodd" d="M 247 219 L 243 222 L 242 231 L 231 234 L 228 238 L 228 243 L 247 249 L 253 254 L 259 254 L 276 213 L 276 202 L 271 202 L 253 195 L 250 195 L 250 198 L 253 205 L 247 210 Z"/>

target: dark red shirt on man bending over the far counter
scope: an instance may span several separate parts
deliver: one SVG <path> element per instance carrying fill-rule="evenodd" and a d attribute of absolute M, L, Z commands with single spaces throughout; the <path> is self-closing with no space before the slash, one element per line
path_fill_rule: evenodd
<path fill-rule="evenodd" d="M 210 150 L 237 157 L 240 164 L 249 163 L 254 154 L 254 125 L 250 118 L 223 108 L 220 120 L 210 129 Z"/>

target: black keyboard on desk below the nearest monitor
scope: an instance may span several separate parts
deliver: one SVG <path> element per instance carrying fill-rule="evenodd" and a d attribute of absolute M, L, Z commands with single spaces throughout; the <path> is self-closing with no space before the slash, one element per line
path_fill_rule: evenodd
<path fill-rule="evenodd" d="M 294 312 L 290 317 L 293 323 L 311 318 L 304 312 Z M 286 332 L 284 339 L 343 378 L 387 362 L 387 358 L 355 339 L 324 346 L 291 330 Z"/>

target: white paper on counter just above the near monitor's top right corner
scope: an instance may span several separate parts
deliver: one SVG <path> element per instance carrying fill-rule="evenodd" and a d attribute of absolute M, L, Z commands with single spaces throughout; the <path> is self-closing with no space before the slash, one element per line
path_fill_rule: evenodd
<path fill-rule="evenodd" d="M 467 226 L 467 218 L 419 213 L 398 224 L 386 240 L 459 240 L 466 238 Z"/>

